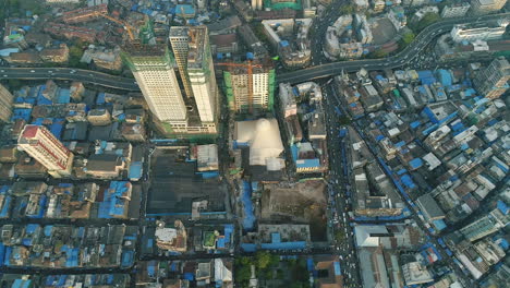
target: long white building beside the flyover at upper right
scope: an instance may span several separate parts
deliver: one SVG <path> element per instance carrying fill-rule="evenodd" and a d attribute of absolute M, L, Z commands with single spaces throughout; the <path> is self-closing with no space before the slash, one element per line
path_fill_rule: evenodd
<path fill-rule="evenodd" d="M 474 41 L 474 40 L 495 40 L 500 39 L 506 29 L 508 22 L 501 22 L 499 25 L 491 27 L 471 28 L 470 25 L 456 25 L 450 36 L 456 43 Z"/>

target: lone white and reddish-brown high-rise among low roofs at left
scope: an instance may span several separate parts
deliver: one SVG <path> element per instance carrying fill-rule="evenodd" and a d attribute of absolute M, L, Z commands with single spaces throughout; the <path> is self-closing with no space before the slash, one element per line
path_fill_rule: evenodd
<path fill-rule="evenodd" d="M 25 125 L 17 146 L 48 169 L 54 178 L 71 175 L 74 155 L 42 125 Z"/>

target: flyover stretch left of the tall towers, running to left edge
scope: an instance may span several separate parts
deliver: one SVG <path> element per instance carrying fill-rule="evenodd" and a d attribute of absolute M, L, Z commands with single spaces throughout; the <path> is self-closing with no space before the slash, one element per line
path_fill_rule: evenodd
<path fill-rule="evenodd" d="M 107 73 L 71 68 L 7 68 L 0 67 L 0 80 L 69 80 L 92 83 L 110 88 L 139 92 L 134 79 L 113 76 Z"/>

